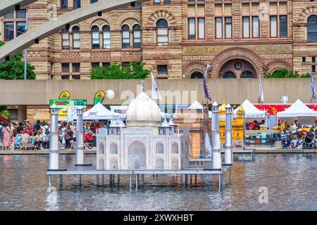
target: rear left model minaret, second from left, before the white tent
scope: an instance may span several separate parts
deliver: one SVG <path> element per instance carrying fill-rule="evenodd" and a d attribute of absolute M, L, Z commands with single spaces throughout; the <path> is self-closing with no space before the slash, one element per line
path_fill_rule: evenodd
<path fill-rule="evenodd" d="M 82 106 L 77 108 L 77 131 L 76 131 L 76 165 L 84 164 L 84 130 L 82 124 Z"/>

